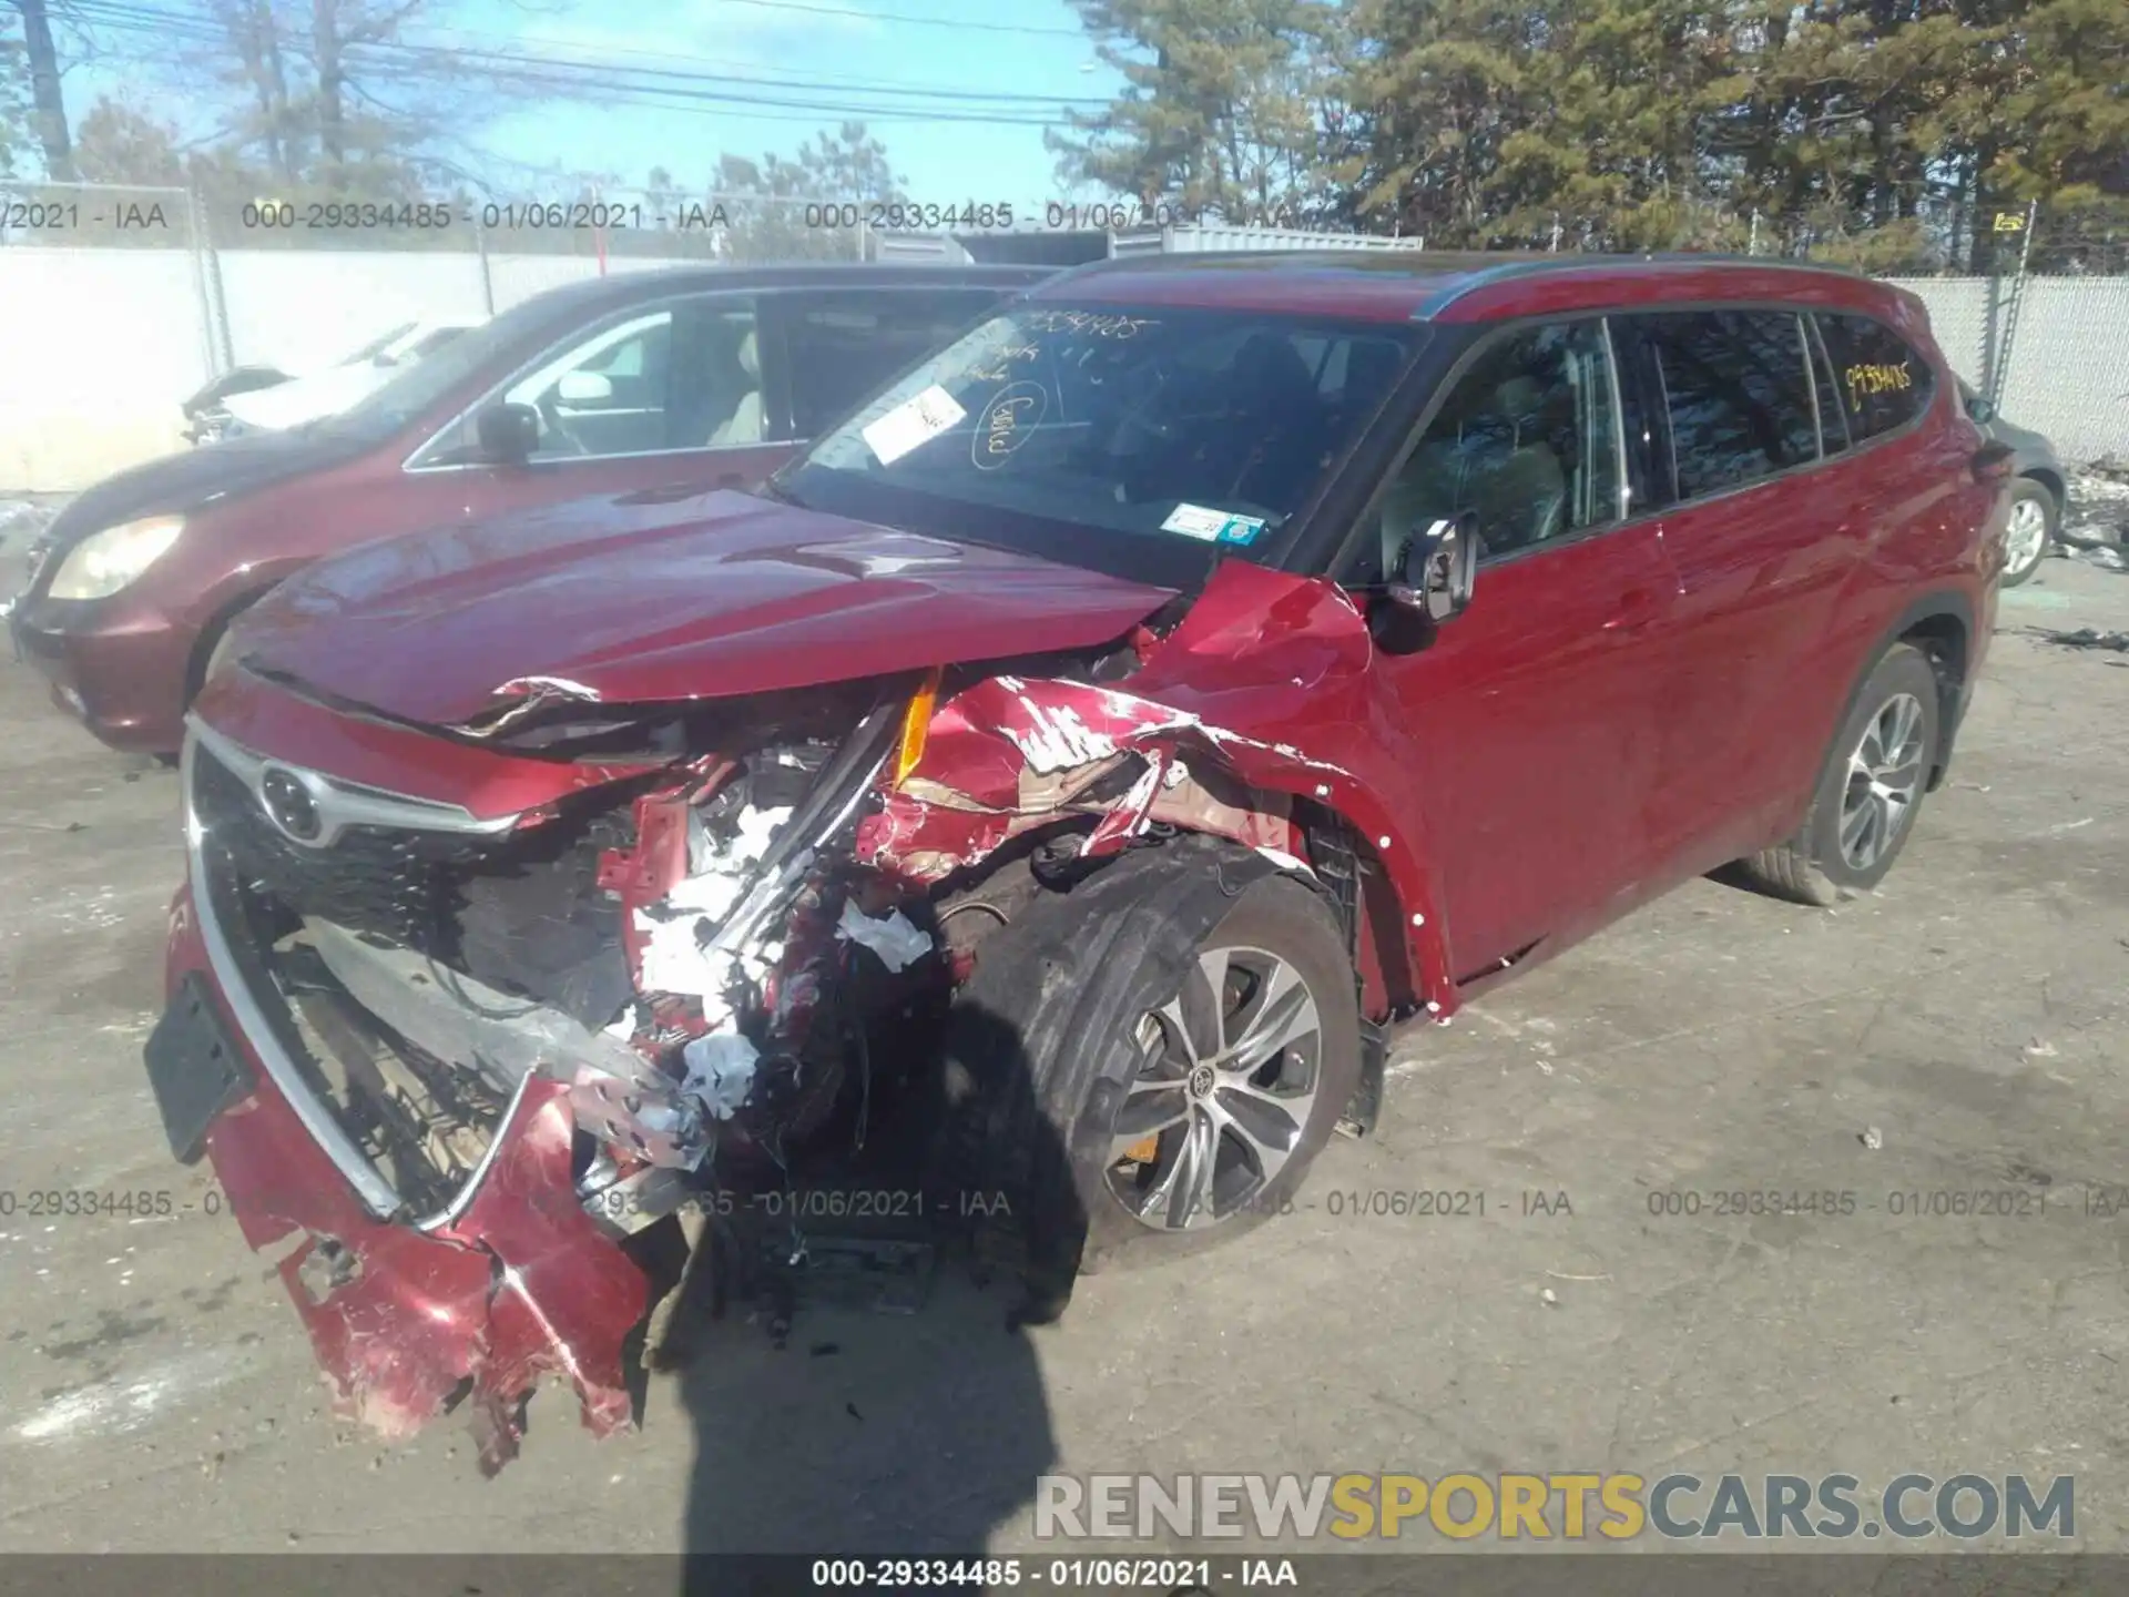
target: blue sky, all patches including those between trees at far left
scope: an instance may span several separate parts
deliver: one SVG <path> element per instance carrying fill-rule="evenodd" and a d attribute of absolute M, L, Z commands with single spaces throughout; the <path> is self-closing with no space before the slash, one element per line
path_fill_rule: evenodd
<path fill-rule="evenodd" d="M 294 6 L 292 15 L 300 15 Z M 62 62 L 72 119 L 111 94 L 187 138 L 211 138 L 224 102 L 177 83 L 158 85 L 166 62 L 217 38 L 202 0 L 119 0 L 89 6 L 89 60 L 62 13 Z M 694 98 L 677 106 L 611 100 L 530 100 L 528 109 L 445 141 L 451 160 L 481 172 L 509 198 L 573 198 L 575 175 L 613 172 L 643 183 L 664 166 L 681 187 L 703 192 L 724 151 L 760 160 L 798 145 L 845 115 L 888 147 L 911 200 L 1011 202 L 1103 198 L 1056 181 L 1035 119 L 1062 121 L 1060 102 L 1096 109 L 1122 79 L 1094 47 L 1067 0 L 426 0 L 402 32 L 411 45 L 462 51 L 537 51 L 588 66 L 720 75 L 686 85 L 692 94 L 766 94 L 801 106 L 741 109 Z M 219 51 L 215 51 L 219 53 Z M 856 94 L 907 89 L 903 115 L 854 109 Z M 999 102 L 996 96 L 1009 96 Z M 941 113 L 962 113 L 950 119 Z M 977 121 L 979 113 L 1011 121 Z"/>

